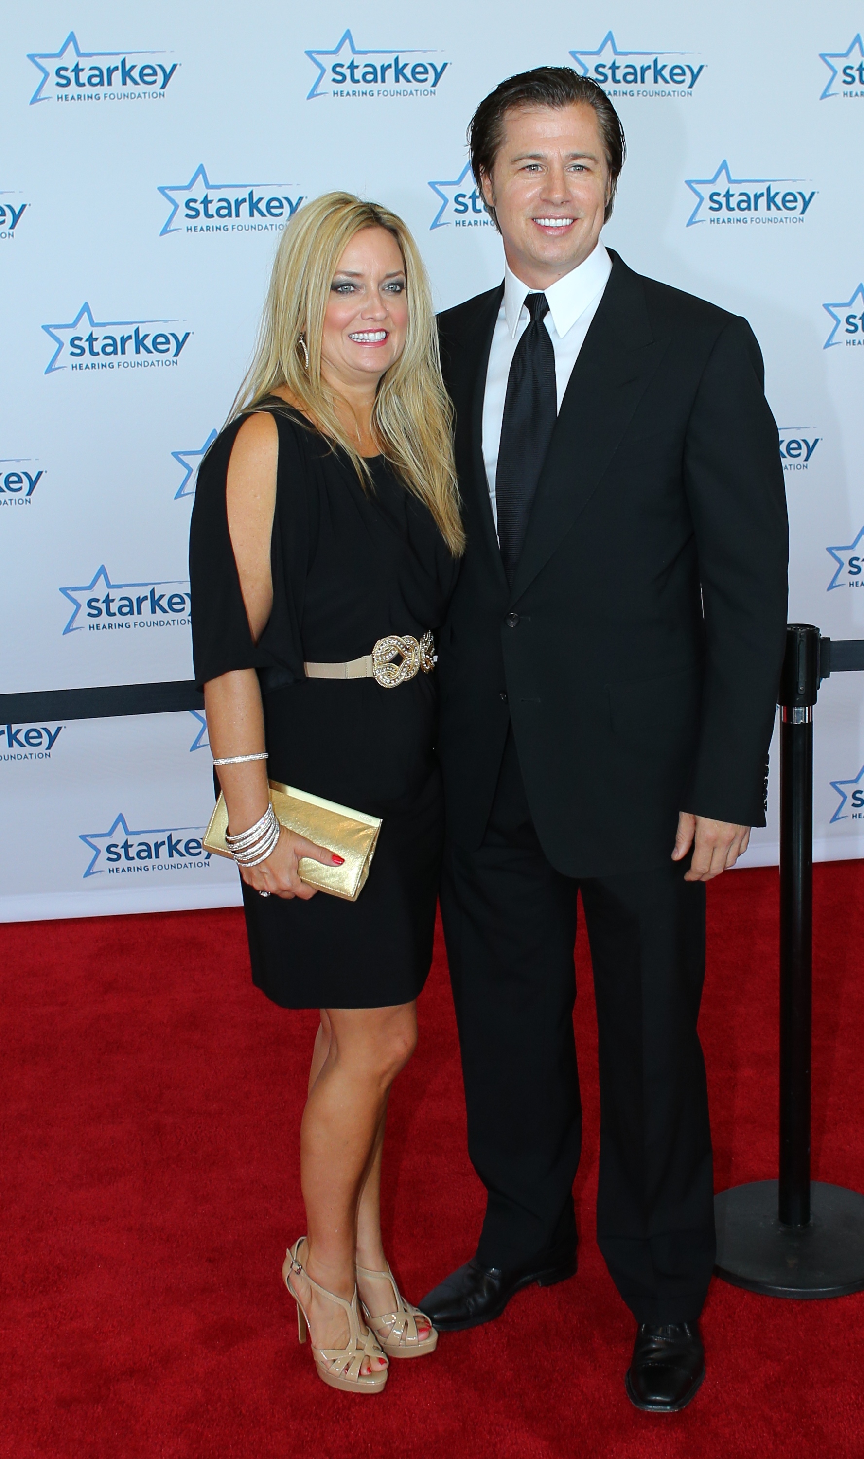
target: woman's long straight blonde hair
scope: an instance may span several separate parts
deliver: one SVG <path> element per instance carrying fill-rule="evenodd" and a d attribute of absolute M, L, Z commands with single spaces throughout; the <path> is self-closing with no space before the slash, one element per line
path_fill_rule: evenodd
<path fill-rule="evenodd" d="M 452 406 L 441 378 L 432 290 L 414 239 L 396 213 L 350 193 L 325 193 L 285 229 L 264 303 L 252 363 L 229 419 L 255 410 L 277 387 L 355 465 L 365 487 L 369 468 L 336 413 L 321 375 L 321 343 L 330 286 L 347 244 L 363 228 L 385 228 L 406 267 L 409 324 L 404 350 L 378 385 L 372 433 L 404 486 L 432 512 L 454 557 L 464 531 L 452 455 Z"/>

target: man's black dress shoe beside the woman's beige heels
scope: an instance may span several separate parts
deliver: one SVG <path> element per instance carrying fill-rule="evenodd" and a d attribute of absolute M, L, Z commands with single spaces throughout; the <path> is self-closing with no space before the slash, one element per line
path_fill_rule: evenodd
<path fill-rule="evenodd" d="M 575 1246 L 541 1252 L 533 1261 L 511 1271 L 501 1266 L 480 1266 L 473 1256 L 470 1262 L 451 1272 L 420 1303 L 433 1328 L 439 1332 L 463 1332 L 493 1322 L 506 1307 L 514 1293 L 537 1282 L 539 1287 L 553 1287 L 566 1281 L 576 1271 Z"/>

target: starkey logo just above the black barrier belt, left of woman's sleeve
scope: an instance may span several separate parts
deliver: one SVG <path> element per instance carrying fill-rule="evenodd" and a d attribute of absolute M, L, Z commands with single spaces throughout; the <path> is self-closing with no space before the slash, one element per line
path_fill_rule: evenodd
<path fill-rule="evenodd" d="M 111 582 L 102 563 L 89 582 L 58 589 L 72 604 L 63 629 L 69 633 L 117 633 L 134 629 L 177 629 L 190 623 L 188 578 L 146 578 Z"/>

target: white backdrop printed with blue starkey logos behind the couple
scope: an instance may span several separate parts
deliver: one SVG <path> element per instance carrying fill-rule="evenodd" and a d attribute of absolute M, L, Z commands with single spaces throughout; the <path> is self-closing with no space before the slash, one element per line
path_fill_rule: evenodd
<path fill-rule="evenodd" d="M 502 254 L 466 124 L 541 63 L 593 76 L 623 118 L 606 239 L 750 320 L 781 426 L 790 617 L 864 636 L 863 29 L 846 0 L 10 6 L 0 690 L 191 677 L 196 468 L 282 229 L 349 188 L 406 217 L 441 306 L 489 287 Z M 861 676 L 823 686 L 822 858 L 864 855 L 863 703 Z M 750 864 L 776 861 L 772 763 Z M 0 785 L 0 918 L 238 900 L 234 867 L 201 852 L 201 715 L 3 725 Z"/>

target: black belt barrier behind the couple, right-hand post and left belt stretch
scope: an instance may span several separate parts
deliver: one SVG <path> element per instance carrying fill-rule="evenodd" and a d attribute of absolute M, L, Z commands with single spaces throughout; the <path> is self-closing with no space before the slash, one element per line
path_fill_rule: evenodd
<path fill-rule="evenodd" d="M 779 1179 L 715 1196 L 717 1275 L 772 1297 L 864 1288 L 864 1195 L 810 1180 L 813 1005 L 813 706 L 830 674 L 864 670 L 864 639 L 791 623 L 781 676 Z M 201 709 L 191 680 L 0 694 L 0 722 Z"/>

